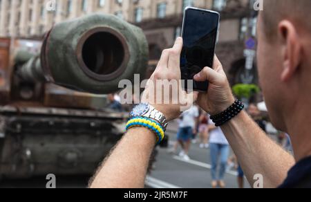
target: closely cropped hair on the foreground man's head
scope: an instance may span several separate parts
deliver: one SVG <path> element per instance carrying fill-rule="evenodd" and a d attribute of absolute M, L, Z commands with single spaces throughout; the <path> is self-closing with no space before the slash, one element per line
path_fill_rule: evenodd
<path fill-rule="evenodd" d="M 311 0 L 264 0 L 263 24 L 269 39 L 276 35 L 282 19 L 288 19 L 311 33 Z"/>

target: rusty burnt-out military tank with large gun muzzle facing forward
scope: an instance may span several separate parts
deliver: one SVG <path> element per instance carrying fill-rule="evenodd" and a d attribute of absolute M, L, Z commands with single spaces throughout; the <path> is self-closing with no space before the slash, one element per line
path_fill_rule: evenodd
<path fill-rule="evenodd" d="M 113 15 L 65 21 L 40 42 L 0 39 L 0 176 L 93 174 L 128 118 L 106 94 L 147 61 L 142 30 Z"/>

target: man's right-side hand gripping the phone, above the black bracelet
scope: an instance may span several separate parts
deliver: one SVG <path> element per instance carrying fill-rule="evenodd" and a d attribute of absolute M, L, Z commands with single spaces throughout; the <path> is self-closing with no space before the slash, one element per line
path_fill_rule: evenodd
<path fill-rule="evenodd" d="M 225 111 L 234 103 L 234 96 L 232 95 L 227 76 L 216 55 L 213 68 L 205 67 L 194 76 L 194 80 L 197 82 L 209 81 L 208 91 L 200 93 L 197 102 L 202 109 L 212 116 Z"/>

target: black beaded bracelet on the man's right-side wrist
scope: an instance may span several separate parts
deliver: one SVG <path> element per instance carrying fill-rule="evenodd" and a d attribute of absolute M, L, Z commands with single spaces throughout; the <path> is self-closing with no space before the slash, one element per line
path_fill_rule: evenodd
<path fill-rule="evenodd" d="M 240 100 L 236 100 L 228 109 L 219 113 L 216 116 L 211 116 L 211 120 L 215 123 L 216 127 L 224 125 L 229 120 L 232 120 L 244 109 L 244 104 Z"/>

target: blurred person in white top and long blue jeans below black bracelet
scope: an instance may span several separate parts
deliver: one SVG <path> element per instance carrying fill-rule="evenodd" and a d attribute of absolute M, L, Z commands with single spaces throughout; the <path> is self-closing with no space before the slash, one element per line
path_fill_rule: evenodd
<path fill-rule="evenodd" d="M 218 185 L 225 187 L 225 171 L 229 158 L 229 143 L 220 127 L 216 127 L 214 122 L 209 119 L 209 147 L 211 149 L 211 186 L 216 188 Z M 218 163 L 220 168 L 217 176 Z"/>

